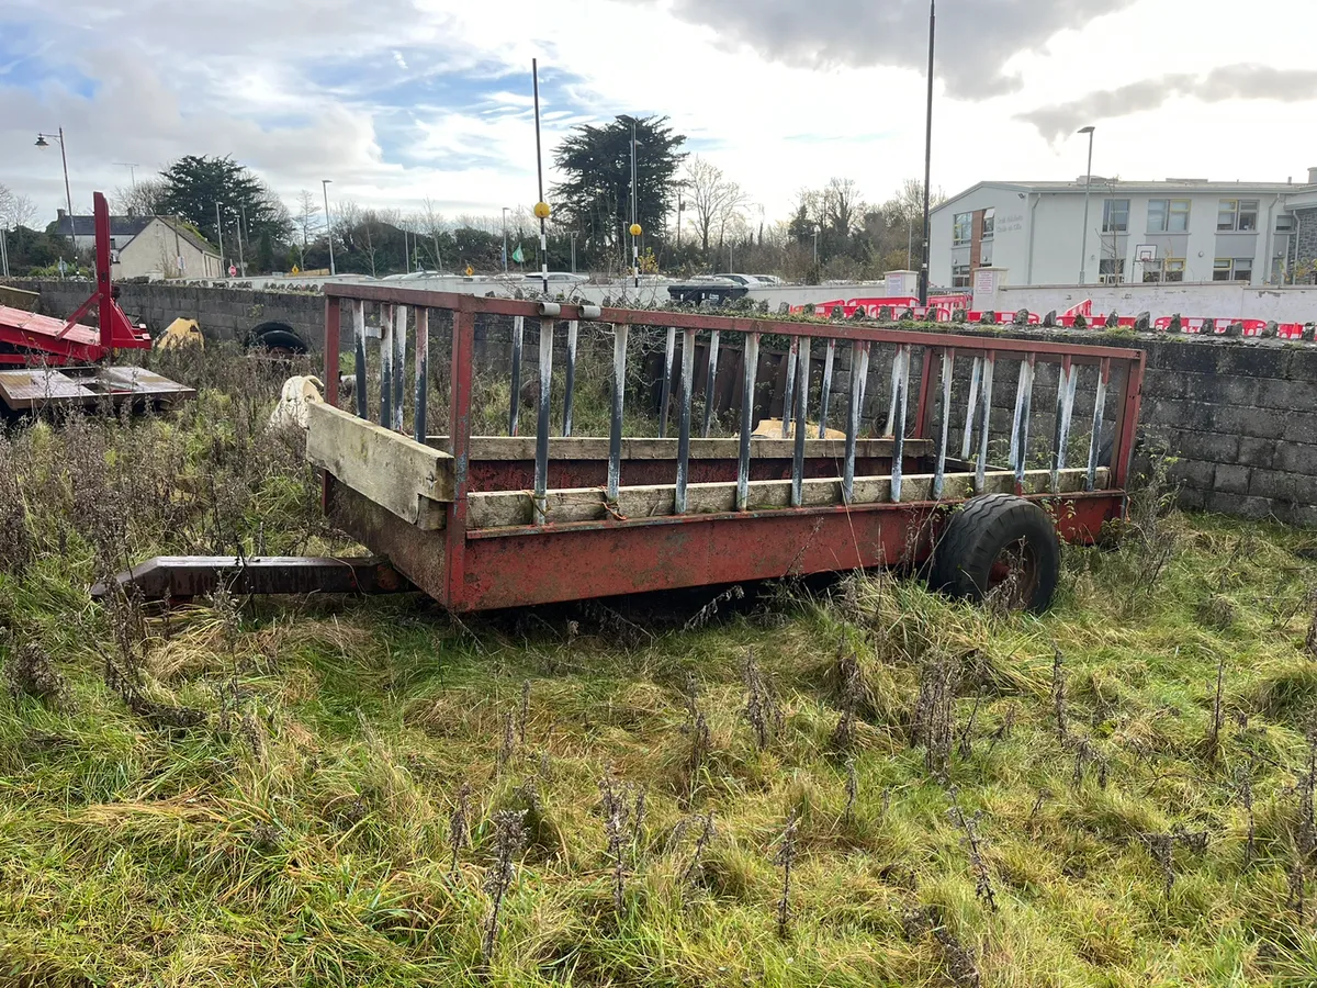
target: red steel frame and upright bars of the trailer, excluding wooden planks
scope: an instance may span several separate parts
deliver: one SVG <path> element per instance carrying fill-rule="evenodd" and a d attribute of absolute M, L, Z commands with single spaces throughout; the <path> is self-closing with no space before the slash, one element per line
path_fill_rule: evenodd
<path fill-rule="evenodd" d="M 362 303 L 387 307 L 408 307 L 414 312 L 428 310 L 448 311 L 453 316 L 450 377 L 452 397 L 449 406 L 448 436 L 449 452 L 453 456 L 454 490 L 453 501 L 445 506 L 445 527 L 443 531 L 419 531 L 400 518 L 391 515 L 379 505 L 370 502 L 357 491 L 338 483 L 328 473 L 324 477 L 325 510 L 345 519 L 345 524 L 371 551 L 385 553 L 392 564 L 416 586 L 425 590 L 446 607 L 454 611 L 483 610 L 551 601 L 579 599 L 618 593 L 661 590 L 678 586 L 706 584 L 726 584 L 743 580 L 803 574 L 820 570 L 840 570 L 856 566 L 872 566 L 900 561 L 918 563 L 931 552 L 934 540 L 940 531 L 946 510 L 955 501 L 900 501 L 902 474 L 910 481 L 902 462 L 901 448 L 909 439 L 934 440 L 936 453 L 936 473 L 934 497 L 940 497 L 947 451 L 948 414 L 942 415 L 942 427 L 936 436 L 932 432 L 932 404 L 939 395 L 943 402 L 950 395 L 950 375 L 955 360 L 973 360 L 973 387 L 967 410 L 971 428 L 980 429 L 980 456 L 977 464 L 977 489 L 982 490 L 988 448 L 988 415 L 992 411 L 992 369 L 998 358 L 1017 358 L 1027 373 L 1021 374 L 1022 398 L 1017 403 L 1017 416 L 1013 436 L 1027 443 L 1029 435 L 1029 394 L 1033 387 L 1034 368 L 1038 364 L 1055 364 L 1059 369 L 1058 423 L 1052 436 L 1058 449 L 1064 447 L 1073 407 L 1075 379 L 1079 366 L 1094 366 L 1100 379 L 1098 399 L 1104 399 L 1123 371 L 1123 393 L 1117 406 L 1115 433 L 1113 440 L 1109 481 L 1101 490 L 1094 490 L 1097 477 L 1096 447 L 1101 437 L 1101 403 L 1094 415 L 1094 428 L 1090 437 L 1089 469 L 1084 493 L 1030 493 L 1023 489 L 1023 462 L 1021 454 L 1013 464 L 1017 473 L 1015 490 L 1021 495 L 1064 507 L 1055 512 L 1058 528 L 1063 537 L 1073 541 L 1092 541 L 1101 526 L 1123 511 L 1125 485 L 1129 477 L 1130 454 L 1134 445 L 1138 423 L 1139 399 L 1143 381 L 1144 358 L 1138 349 L 1122 349 L 1093 345 L 1075 345 L 1050 340 L 1021 340 L 1010 337 L 956 336 L 926 329 L 900 329 L 846 323 L 781 321 L 774 319 L 753 319 L 743 316 L 716 316 L 703 312 L 644 311 L 623 308 L 595 308 L 578 304 L 537 303 L 512 299 L 481 298 L 456 292 L 433 292 L 419 288 L 404 288 L 375 285 L 327 285 L 325 286 L 325 364 L 324 381 L 327 399 L 337 404 L 338 399 L 338 353 L 341 344 L 341 310 L 350 314 L 356 331 L 358 353 L 358 402 L 365 393 L 363 328 Z M 487 466 L 473 466 L 471 453 L 471 389 L 474 331 L 478 315 L 511 316 L 518 323 L 527 319 L 539 320 L 541 346 L 541 374 L 544 386 L 540 393 L 540 407 L 536 423 L 536 460 L 533 481 L 535 519 L 528 526 L 508 528 L 468 530 L 468 494 L 474 490 L 473 480 L 487 477 Z M 624 340 L 628 327 L 660 327 L 669 329 L 669 339 L 682 331 L 682 373 L 681 394 L 678 397 L 678 457 L 672 462 L 676 478 L 677 512 L 658 518 L 608 518 L 598 522 L 552 523 L 543 522 L 544 498 L 548 491 L 548 429 L 549 429 L 549 377 L 548 365 L 553 357 L 552 335 L 554 321 L 569 324 L 606 323 L 618 329 L 618 337 Z M 429 323 L 427 321 L 427 325 Z M 406 333 L 406 321 L 399 320 L 394 332 Z M 793 498 L 792 506 L 773 510 L 752 510 L 747 505 L 744 490 L 739 491 L 736 511 L 716 514 L 685 514 L 686 483 L 690 482 L 687 454 L 691 428 L 691 379 L 693 341 L 697 332 L 710 331 L 720 336 L 726 345 L 728 335 L 744 339 L 747 352 L 757 350 L 763 335 L 781 335 L 797 344 L 810 344 L 813 340 L 827 341 L 826 375 L 831 377 L 832 357 L 836 341 L 851 344 L 852 399 L 847 429 L 847 462 L 842 480 L 843 503 L 819 507 L 803 506 L 798 494 L 799 478 L 805 476 L 807 457 L 805 456 L 803 428 L 810 378 L 809 362 L 803 354 L 799 360 L 799 381 L 788 371 L 798 400 L 795 407 L 784 406 L 784 425 L 788 419 L 795 420 L 795 454 L 792 457 Z M 520 336 L 519 333 L 516 336 Z M 383 343 L 383 341 L 382 341 Z M 863 375 L 872 346 L 880 344 L 896 345 L 900 353 L 894 373 L 892 432 L 894 451 L 892 456 L 890 502 L 852 503 L 851 491 L 855 482 L 855 440 L 859 432 L 860 402 L 855 395 L 863 393 Z M 913 348 L 923 349 L 922 375 L 918 397 L 909 411 L 907 390 Z M 520 348 L 516 348 L 520 349 Z M 396 350 L 400 353 L 402 350 Z M 666 369 L 670 371 L 676 353 L 668 350 Z M 568 350 L 569 379 L 574 371 L 576 348 Z M 514 352 L 514 358 L 516 357 Z M 624 364 L 624 344 L 616 350 L 615 375 L 622 382 Z M 424 350 L 416 354 L 424 360 Z M 711 368 L 716 368 L 716 356 L 711 354 Z M 400 364 L 400 357 L 399 357 Z M 402 399 L 402 368 L 390 368 L 386 382 L 394 382 L 394 391 Z M 745 395 L 753 391 L 753 364 L 745 364 L 745 387 L 741 408 L 741 454 L 739 457 L 739 485 L 749 476 L 749 444 L 747 440 L 749 414 L 745 408 Z M 668 387 L 670 373 L 665 374 L 661 415 L 666 422 Z M 710 378 L 711 382 L 711 378 Z M 939 386 L 940 385 L 940 386 Z M 387 386 L 387 383 L 386 383 Z M 711 383 L 710 383 L 711 386 Z M 1027 390 L 1026 390 L 1027 389 Z M 620 390 L 620 389 L 619 389 Z M 514 400 L 519 389 L 512 387 Z M 424 407 L 425 379 L 421 370 L 416 386 L 415 400 Z M 826 394 L 826 390 L 823 391 Z M 900 402 L 897 395 L 900 394 Z M 863 398 L 861 398 L 863 400 Z M 566 397 L 568 406 L 570 395 Z M 977 403 L 977 407 L 976 407 Z M 620 447 L 620 394 L 614 395 L 614 415 L 610 436 L 610 462 L 606 473 L 599 473 L 601 486 L 606 483 L 610 498 L 616 498 L 619 486 Z M 358 415 L 365 411 L 358 404 Z M 515 408 L 512 411 L 515 420 Z M 913 423 L 913 433 L 906 436 L 906 423 Z M 399 406 L 387 408 L 385 425 L 402 428 Z M 417 439 L 424 441 L 424 423 L 419 424 Z M 969 448 L 969 432 L 965 433 L 965 451 Z M 1021 447 L 1023 449 L 1023 445 Z M 961 457 L 967 458 L 967 457 Z M 1056 491 L 1056 473 L 1064 466 L 1064 453 L 1054 452 L 1051 470 L 1051 490 Z M 591 474 L 595 476 L 595 474 Z M 834 474 L 835 476 L 835 474 Z M 523 477 L 524 478 L 524 477 Z M 558 470 L 558 478 L 565 478 Z"/>

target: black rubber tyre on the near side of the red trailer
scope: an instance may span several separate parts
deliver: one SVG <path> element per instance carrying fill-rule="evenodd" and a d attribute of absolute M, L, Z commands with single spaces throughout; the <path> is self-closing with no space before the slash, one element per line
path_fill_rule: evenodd
<path fill-rule="evenodd" d="M 934 551 L 930 582 L 955 597 L 1042 613 L 1052 602 L 1060 566 L 1056 526 L 1043 508 L 1014 494 L 985 494 L 951 516 Z"/>

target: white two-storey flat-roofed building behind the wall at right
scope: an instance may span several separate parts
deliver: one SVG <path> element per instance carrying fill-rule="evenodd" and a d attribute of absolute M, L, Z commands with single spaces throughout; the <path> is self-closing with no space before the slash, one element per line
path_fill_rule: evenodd
<path fill-rule="evenodd" d="M 979 267 L 1008 285 L 1289 285 L 1317 258 L 1317 169 L 1306 184 L 1167 179 L 980 182 L 932 211 L 928 275 L 969 288 Z M 1083 277 L 1081 277 L 1083 274 Z"/>

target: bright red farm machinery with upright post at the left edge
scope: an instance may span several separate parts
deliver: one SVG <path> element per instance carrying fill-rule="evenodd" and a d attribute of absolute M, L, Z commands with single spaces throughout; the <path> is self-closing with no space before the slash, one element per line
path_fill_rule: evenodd
<path fill-rule="evenodd" d="M 0 306 L 0 402 L 28 412 L 61 406 L 95 406 L 109 400 L 169 402 L 191 389 L 137 366 L 115 366 L 120 350 L 150 349 L 145 327 L 134 327 L 119 307 L 111 281 L 109 208 L 94 196 L 96 281 L 68 319 Z M 97 325 L 79 320 L 96 314 Z"/>

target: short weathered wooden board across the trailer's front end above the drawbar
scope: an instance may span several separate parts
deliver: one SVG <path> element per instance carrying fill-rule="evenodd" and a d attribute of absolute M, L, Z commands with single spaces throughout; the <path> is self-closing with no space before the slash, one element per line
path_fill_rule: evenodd
<path fill-rule="evenodd" d="M 454 495 L 453 457 L 340 411 L 307 406 L 307 460 L 417 528 L 444 527 Z"/>

